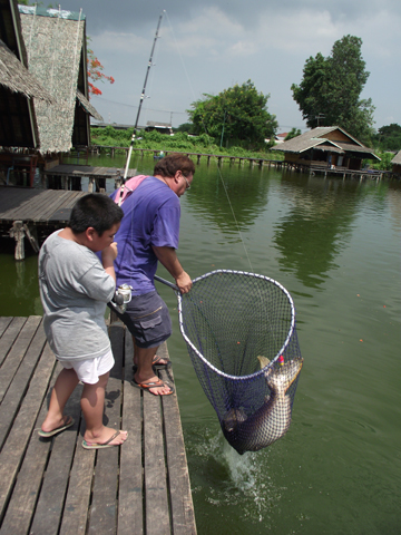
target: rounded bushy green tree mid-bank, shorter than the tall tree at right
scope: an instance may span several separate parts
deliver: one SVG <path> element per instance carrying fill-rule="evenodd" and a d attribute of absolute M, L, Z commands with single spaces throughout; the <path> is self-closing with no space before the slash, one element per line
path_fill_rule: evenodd
<path fill-rule="evenodd" d="M 258 93 L 251 80 L 216 96 L 204 94 L 204 99 L 187 110 L 194 134 L 206 132 L 221 146 L 263 147 L 265 138 L 274 138 L 278 127 L 275 116 L 267 111 L 268 97 Z"/>

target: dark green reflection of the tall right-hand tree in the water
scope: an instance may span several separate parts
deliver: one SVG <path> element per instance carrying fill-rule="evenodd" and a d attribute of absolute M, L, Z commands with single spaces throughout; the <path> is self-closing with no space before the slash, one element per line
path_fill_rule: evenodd
<path fill-rule="evenodd" d="M 275 225 L 278 262 L 309 288 L 319 288 L 338 269 L 358 212 L 359 183 L 283 174 L 282 201 L 288 210 Z"/>

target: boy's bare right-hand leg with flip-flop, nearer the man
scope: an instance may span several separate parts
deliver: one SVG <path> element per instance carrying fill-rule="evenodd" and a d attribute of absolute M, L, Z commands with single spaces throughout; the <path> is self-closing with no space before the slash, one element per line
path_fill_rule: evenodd
<path fill-rule="evenodd" d="M 81 396 L 81 409 L 86 422 L 84 439 L 89 444 L 104 444 L 116 432 L 111 427 L 102 425 L 105 408 L 105 391 L 109 372 L 99 377 L 96 385 L 84 385 Z M 110 445 L 123 444 L 127 439 L 127 431 L 119 431 L 119 435 Z"/>

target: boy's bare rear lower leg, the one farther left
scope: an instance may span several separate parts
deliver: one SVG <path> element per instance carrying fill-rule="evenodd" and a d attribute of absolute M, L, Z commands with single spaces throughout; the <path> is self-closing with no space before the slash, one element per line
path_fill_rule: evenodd
<path fill-rule="evenodd" d="M 62 416 L 65 406 L 74 392 L 79 379 L 74 369 L 60 371 L 50 397 L 48 414 L 41 425 L 42 431 L 52 431 L 68 422 L 68 416 Z"/>

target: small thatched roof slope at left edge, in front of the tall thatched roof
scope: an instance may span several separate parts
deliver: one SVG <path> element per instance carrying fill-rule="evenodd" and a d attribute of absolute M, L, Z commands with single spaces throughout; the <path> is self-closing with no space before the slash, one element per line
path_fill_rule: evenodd
<path fill-rule="evenodd" d="M 55 103 L 29 70 L 23 67 L 7 45 L 0 39 L 0 84 L 10 91 L 21 93 L 27 98 L 36 97 L 47 104 Z"/>

